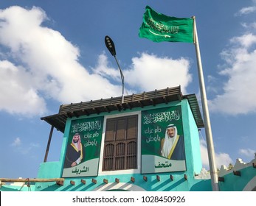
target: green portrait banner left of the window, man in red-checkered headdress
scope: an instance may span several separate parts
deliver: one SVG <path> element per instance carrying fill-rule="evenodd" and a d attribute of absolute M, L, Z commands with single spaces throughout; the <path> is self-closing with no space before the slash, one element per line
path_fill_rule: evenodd
<path fill-rule="evenodd" d="M 62 177 L 97 176 L 102 134 L 103 117 L 71 122 Z"/>

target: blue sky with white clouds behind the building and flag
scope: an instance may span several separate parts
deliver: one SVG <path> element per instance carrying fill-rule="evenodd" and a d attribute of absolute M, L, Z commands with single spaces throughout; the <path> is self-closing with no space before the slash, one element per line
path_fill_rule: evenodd
<path fill-rule="evenodd" d="M 145 7 L 196 16 L 216 164 L 256 152 L 256 1 L 0 1 L 0 177 L 37 177 L 60 104 L 181 85 L 200 100 L 195 46 L 139 38 Z M 48 161 L 63 134 L 53 132 Z M 204 129 L 201 156 L 208 167 Z"/>

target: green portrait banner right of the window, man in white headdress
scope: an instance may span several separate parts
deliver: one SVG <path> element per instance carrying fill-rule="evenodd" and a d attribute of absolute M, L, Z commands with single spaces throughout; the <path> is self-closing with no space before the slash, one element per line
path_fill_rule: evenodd
<path fill-rule="evenodd" d="M 142 111 L 142 174 L 186 171 L 181 106 Z"/>

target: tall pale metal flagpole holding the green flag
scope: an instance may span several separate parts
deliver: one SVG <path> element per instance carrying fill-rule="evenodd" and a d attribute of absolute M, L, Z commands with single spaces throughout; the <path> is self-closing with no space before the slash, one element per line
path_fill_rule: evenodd
<path fill-rule="evenodd" d="M 218 173 L 217 168 L 215 166 L 215 152 L 214 152 L 214 146 L 212 141 L 212 128 L 210 124 L 210 116 L 209 116 L 209 110 L 207 105 L 207 94 L 205 91 L 204 86 L 204 74 L 203 69 L 201 65 L 201 54 L 199 49 L 199 43 L 198 43 L 198 36 L 197 36 L 197 30 L 196 30 L 196 17 L 193 16 L 194 20 L 194 44 L 196 46 L 196 60 L 198 64 L 198 78 L 199 78 L 199 85 L 200 85 L 200 93 L 201 93 L 201 103 L 204 113 L 204 124 L 205 124 L 205 135 L 207 139 L 207 150 L 208 150 L 208 159 L 210 164 L 210 175 L 212 180 L 212 191 L 219 191 L 218 188 Z"/>

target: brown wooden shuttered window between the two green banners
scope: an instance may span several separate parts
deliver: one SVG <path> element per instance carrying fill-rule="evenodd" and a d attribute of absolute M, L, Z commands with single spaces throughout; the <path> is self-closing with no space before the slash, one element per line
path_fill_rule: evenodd
<path fill-rule="evenodd" d="M 137 132 L 138 116 L 107 119 L 103 171 L 137 168 Z"/>

